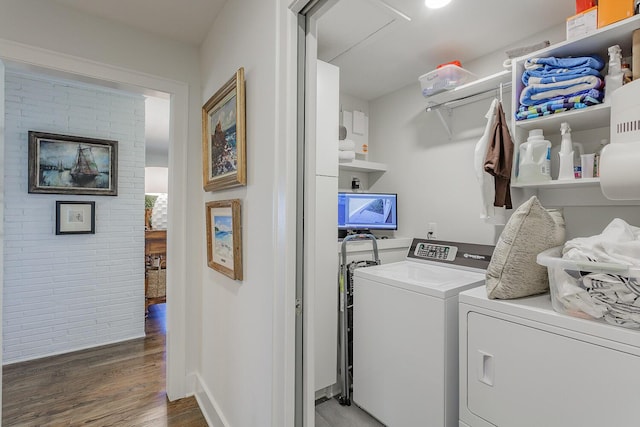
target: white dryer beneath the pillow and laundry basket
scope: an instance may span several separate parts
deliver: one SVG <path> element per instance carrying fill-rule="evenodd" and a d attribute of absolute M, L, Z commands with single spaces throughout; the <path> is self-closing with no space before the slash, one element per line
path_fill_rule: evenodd
<path fill-rule="evenodd" d="M 640 332 L 552 310 L 548 294 L 459 296 L 460 425 L 631 427 Z"/>

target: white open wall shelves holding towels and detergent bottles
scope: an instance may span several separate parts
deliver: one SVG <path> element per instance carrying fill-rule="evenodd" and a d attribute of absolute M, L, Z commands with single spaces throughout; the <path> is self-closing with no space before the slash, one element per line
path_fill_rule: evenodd
<path fill-rule="evenodd" d="M 532 57 L 567 57 L 567 56 L 586 56 L 591 54 L 599 55 L 605 62 L 608 61 L 607 49 L 609 46 L 620 45 L 623 51 L 623 56 L 631 55 L 632 46 L 632 33 L 634 30 L 640 28 L 640 16 L 634 16 L 623 21 L 608 25 L 604 28 L 597 30 L 587 36 L 571 39 L 562 43 L 558 43 L 548 48 L 539 50 L 530 55 L 517 58 L 513 61 L 513 108 L 517 110 L 520 103 L 520 93 L 524 88 L 521 77 L 524 72 L 524 63 L 527 58 Z M 603 70 L 605 75 L 606 68 Z M 606 90 L 606 89 L 605 89 Z M 518 183 L 515 171 L 518 161 L 518 147 L 521 143 L 525 142 L 529 131 L 531 129 L 542 129 L 547 140 L 552 143 L 560 143 L 560 124 L 567 122 L 571 126 L 572 134 L 576 132 L 588 131 L 590 133 L 600 130 L 600 134 L 606 132 L 605 138 L 609 138 L 608 128 L 610 124 L 611 108 L 609 104 L 594 105 L 583 109 L 569 110 L 562 113 L 551 114 L 544 117 L 538 117 L 527 120 L 515 120 L 512 116 L 512 132 L 514 138 L 514 168 L 513 177 L 511 180 L 511 186 L 513 188 L 533 188 L 533 189 L 559 189 L 559 188 L 574 188 L 578 187 L 600 187 L 600 180 L 598 178 L 585 179 L 585 180 L 569 180 L 569 181 L 552 181 L 539 184 L 521 184 Z M 603 130 L 604 128 L 604 130 Z M 574 138 L 575 140 L 575 138 Z M 593 141 L 597 145 L 597 141 Z M 557 155 L 552 155 L 552 165 L 557 161 L 555 158 Z M 552 171 L 555 168 L 552 167 Z M 552 177 L 553 174 L 552 174 Z M 578 182 L 583 181 L 583 182 Z M 600 194 L 595 195 L 598 198 Z M 595 200 L 594 200 L 595 201 Z M 588 202 L 587 202 L 588 204 Z"/>

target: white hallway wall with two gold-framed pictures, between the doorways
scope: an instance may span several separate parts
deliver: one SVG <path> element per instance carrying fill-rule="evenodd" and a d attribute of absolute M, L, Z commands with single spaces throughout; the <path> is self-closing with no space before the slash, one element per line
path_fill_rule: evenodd
<path fill-rule="evenodd" d="M 241 66 L 246 79 L 247 185 L 201 193 L 199 212 L 204 215 L 205 201 L 242 201 L 244 279 L 233 281 L 205 263 L 200 266 L 204 308 L 198 398 L 212 419 L 229 426 L 284 425 L 272 421 L 273 405 L 284 398 L 274 391 L 274 382 L 282 380 L 273 368 L 280 363 L 274 357 L 282 357 L 274 337 L 283 327 L 278 323 L 281 313 L 274 312 L 283 286 L 275 279 L 276 266 L 283 261 L 276 255 L 281 237 L 276 230 L 284 219 L 279 218 L 276 200 L 293 196 L 280 193 L 276 184 L 286 170 L 279 160 L 285 140 L 276 137 L 276 124 L 287 115 L 286 108 L 278 107 L 286 78 L 279 64 L 284 55 L 279 32 L 287 25 L 281 21 L 287 19 L 283 3 L 227 2 L 201 48 L 202 103 Z M 286 167 L 295 170 L 295 160 Z M 295 176 L 290 179 L 295 182 Z M 204 250 L 204 234 L 199 243 Z"/>

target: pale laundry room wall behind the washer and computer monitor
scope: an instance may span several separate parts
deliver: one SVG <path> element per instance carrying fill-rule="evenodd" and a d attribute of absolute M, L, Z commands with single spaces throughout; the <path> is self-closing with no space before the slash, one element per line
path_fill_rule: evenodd
<path fill-rule="evenodd" d="M 564 27 L 562 29 L 564 31 Z M 549 39 L 560 40 L 558 28 L 512 43 L 463 66 L 479 76 L 503 70 L 504 51 Z M 428 70 L 426 70 L 428 71 Z M 425 72 L 426 72 L 425 71 Z M 480 219 L 480 196 L 473 169 L 475 144 L 486 125 L 491 99 L 441 113 L 452 129 L 450 139 L 416 82 L 370 101 L 369 159 L 387 163 L 388 171 L 372 183 L 372 191 L 398 193 L 398 231 L 405 237 L 426 237 L 427 224 L 437 223 L 437 238 L 494 244 L 499 227 Z M 511 93 L 504 91 L 510 123 Z"/>

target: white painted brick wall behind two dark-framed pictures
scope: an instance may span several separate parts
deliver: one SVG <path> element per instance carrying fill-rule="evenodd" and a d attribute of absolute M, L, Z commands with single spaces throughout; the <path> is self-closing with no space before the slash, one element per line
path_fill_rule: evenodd
<path fill-rule="evenodd" d="M 144 335 L 144 98 L 7 70 L 3 363 Z M 28 131 L 118 141 L 118 195 L 29 194 Z M 96 234 L 55 234 L 56 200 Z"/>

